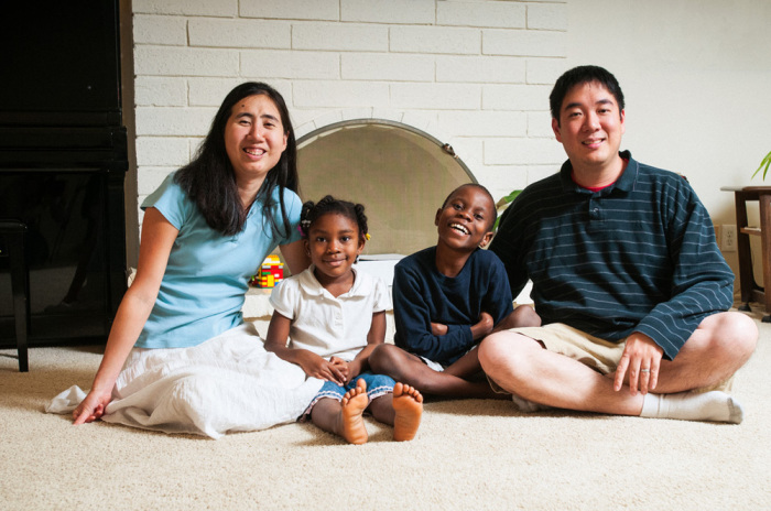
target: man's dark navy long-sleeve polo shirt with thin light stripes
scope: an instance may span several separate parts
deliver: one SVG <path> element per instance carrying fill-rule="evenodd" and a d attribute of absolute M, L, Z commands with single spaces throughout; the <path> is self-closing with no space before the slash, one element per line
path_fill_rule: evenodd
<path fill-rule="evenodd" d="M 616 184 L 576 185 L 569 161 L 504 211 L 490 251 L 512 293 L 528 279 L 543 324 L 610 341 L 633 331 L 673 359 L 706 316 L 728 309 L 734 273 L 707 210 L 681 176 L 629 160 Z"/>

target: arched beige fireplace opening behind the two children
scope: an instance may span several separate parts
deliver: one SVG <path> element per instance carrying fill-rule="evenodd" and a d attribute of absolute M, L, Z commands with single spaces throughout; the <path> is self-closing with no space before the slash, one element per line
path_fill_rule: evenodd
<path fill-rule="evenodd" d="M 436 244 L 434 217 L 446 196 L 477 183 L 453 149 L 395 121 L 357 119 L 317 129 L 297 140 L 300 195 L 361 203 L 371 239 L 359 264 L 392 280 L 401 257 Z"/>

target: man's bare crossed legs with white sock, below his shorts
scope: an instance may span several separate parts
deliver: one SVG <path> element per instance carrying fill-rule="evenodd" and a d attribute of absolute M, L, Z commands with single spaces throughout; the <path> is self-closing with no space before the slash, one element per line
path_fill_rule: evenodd
<path fill-rule="evenodd" d="M 758 328 L 741 313 L 705 318 L 674 360 L 661 360 L 656 387 L 644 394 L 629 387 L 629 373 L 617 391 L 615 367 L 604 369 L 600 363 L 593 369 L 578 361 L 579 357 L 550 350 L 549 340 L 541 343 L 518 330 L 491 334 L 478 349 L 490 380 L 523 400 L 616 415 L 729 423 L 742 420 L 741 406 L 727 393 L 689 392 L 728 380 L 754 351 Z M 528 329 L 529 335 L 532 331 Z"/>

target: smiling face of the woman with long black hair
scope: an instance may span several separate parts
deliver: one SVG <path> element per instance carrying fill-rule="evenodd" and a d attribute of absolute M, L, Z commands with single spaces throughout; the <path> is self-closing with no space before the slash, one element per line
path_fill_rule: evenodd
<path fill-rule="evenodd" d="M 225 149 L 236 178 L 262 178 L 286 149 L 281 113 L 265 95 L 248 96 L 234 105 L 225 127 Z"/>

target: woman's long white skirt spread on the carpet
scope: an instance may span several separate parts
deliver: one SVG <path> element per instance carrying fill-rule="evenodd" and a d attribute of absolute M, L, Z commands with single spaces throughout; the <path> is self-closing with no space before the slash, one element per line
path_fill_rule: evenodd
<path fill-rule="evenodd" d="M 101 420 L 219 438 L 295 421 L 322 384 L 265 351 L 247 323 L 192 348 L 134 348 Z"/>

